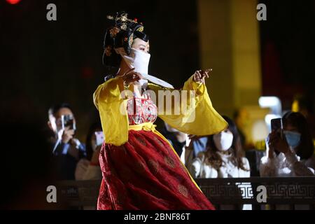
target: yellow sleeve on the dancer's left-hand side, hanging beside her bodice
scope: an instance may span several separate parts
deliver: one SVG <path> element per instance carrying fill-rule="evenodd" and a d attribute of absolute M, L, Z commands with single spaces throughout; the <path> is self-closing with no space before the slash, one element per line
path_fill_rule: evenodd
<path fill-rule="evenodd" d="M 123 90 L 123 80 L 117 77 L 99 85 L 93 94 L 106 144 L 120 146 L 128 141 L 127 99 L 120 94 Z"/>

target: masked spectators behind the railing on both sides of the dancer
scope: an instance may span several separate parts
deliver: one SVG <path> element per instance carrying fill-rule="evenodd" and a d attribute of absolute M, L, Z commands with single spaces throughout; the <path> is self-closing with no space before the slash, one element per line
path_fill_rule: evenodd
<path fill-rule="evenodd" d="M 295 105 L 296 106 L 296 105 Z M 288 111 L 282 130 L 273 130 L 266 140 L 260 176 L 312 176 L 315 169 L 314 143 L 309 113 Z M 308 117 L 307 117 L 308 116 Z M 48 111 L 52 131 L 50 145 L 59 179 L 102 179 L 97 133 L 100 123 L 91 125 L 84 143 L 76 139 L 76 119 L 69 104 Z M 169 140 L 194 178 L 249 177 L 251 167 L 244 150 L 244 135 L 227 116 L 228 128 L 218 134 L 198 137 L 179 132 L 165 123 L 162 134 Z"/>

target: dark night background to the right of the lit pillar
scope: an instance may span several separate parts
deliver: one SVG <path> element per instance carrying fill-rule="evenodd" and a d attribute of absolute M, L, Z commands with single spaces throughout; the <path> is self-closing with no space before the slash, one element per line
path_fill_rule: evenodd
<path fill-rule="evenodd" d="M 315 1 L 260 1 L 267 21 L 260 22 L 262 94 L 276 95 L 290 109 L 295 93 L 314 107 Z"/>

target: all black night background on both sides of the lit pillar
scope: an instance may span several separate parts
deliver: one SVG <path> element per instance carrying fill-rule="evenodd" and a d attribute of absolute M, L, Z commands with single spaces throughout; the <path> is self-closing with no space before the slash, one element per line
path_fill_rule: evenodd
<path fill-rule="evenodd" d="M 261 1 L 262 93 L 277 95 L 289 109 L 293 94 L 314 100 L 315 1 Z M 46 20 L 48 3 L 57 21 Z M 86 129 L 97 111 L 92 93 L 102 83 L 106 15 L 127 10 L 151 36 L 152 74 L 180 87 L 200 67 L 197 1 L 27 1 L 0 0 L 1 111 L 47 120 L 51 104 L 69 102 Z M 7 112 L 7 113 L 6 113 Z M 84 133 L 79 133 L 82 137 Z"/>

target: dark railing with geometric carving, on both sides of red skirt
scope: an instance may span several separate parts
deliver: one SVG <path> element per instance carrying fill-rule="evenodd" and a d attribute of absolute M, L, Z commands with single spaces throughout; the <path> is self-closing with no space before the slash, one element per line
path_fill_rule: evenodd
<path fill-rule="evenodd" d="M 312 204 L 315 207 L 315 177 L 251 177 L 195 179 L 213 204 Z M 101 181 L 60 181 L 57 202 L 65 206 L 95 206 Z M 267 203 L 258 203 L 257 187 L 267 189 Z"/>

